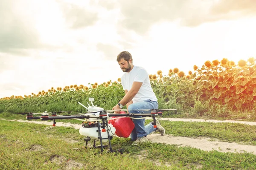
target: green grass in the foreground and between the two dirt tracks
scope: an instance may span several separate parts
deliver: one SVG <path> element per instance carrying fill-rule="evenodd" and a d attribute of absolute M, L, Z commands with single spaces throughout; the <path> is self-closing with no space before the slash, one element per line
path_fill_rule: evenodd
<path fill-rule="evenodd" d="M 228 130 L 228 133 L 239 132 L 230 135 L 231 140 L 236 141 L 234 136 L 241 138 L 242 134 L 248 136 L 246 133 L 253 133 L 253 130 L 255 132 L 254 126 L 230 123 L 221 125 L 207 122 L 161 121 L 161 123 L 166 127 L 166 133 L 174 136 L 192 137 L 212 134 L 225 138 L 226 135 L 223 133 Z M 207 152 L 192 147 L 150 142 L 134 146 L 128 138 L 114 137 L 111 140 L 113 149 L 123 148 L 123 154 L 106 151 L 100 153 L 100 149 L 72 150 L 72 148 L 84 147 L 83 136 L 78 130 L 71 127 L 46 127 L 46 125 L 0 120 L 0 169 L 57 170 L 65 169 L 72 161 L 75 162 L 74 164 L 80 163 L 81 169 L 100 170 L 254 169 L 256 167 L 256 155 L 251 153 L 221 153 L 217 150 Z M 78 142 L 72 143 L 72 140 Z M 251 136 L 249 139 L 239 140 L 248 142 L 253 138 Z M 57 157 L 62 161 L 54 161 Z"/>

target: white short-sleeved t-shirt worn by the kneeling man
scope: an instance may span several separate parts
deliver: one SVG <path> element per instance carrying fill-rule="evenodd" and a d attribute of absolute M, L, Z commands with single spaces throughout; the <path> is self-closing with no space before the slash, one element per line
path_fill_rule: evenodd
<path fill-rule="evenodd" d="M 144 68 L 134 65 L 134 68 L 129 73 L 126 72 L 121 78 L 123 89 L 127 91 L 131 90 L 133 82 L 142 82 L 140 90 L 132 99 L 134 103 L 143 102 L 147 99 L 157 101 L 157 97 L 151 88 L 148 73 Z"/>

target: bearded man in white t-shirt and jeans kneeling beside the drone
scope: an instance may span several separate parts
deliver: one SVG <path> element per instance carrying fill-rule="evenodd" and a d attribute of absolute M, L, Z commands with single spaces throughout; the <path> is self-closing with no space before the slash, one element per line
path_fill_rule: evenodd
<path fill-rule="evenodd" d="M 125 96 L 112 109 L 119 110 L 124 105 L 128 108 L 128 113 L 151 113 L 151 111 L 140 111 L 140 109 L 157 109 L 157 97 L 151 88 L 147 71 L 142 67 L 133 65 L 132 56 L 128 51 L 122 51 L 118 54 L 116 61 L 122 71 L 125 72 L 121 78 Z M 120 113 L 120 111 L 116 111 L 116 113 Z M 142 116 L 134 117 L 142 118 Z M 164 128 L 157 120 L 157 128 L 154 128 L 152 123 L 145 126 L 145 119 L 133 119 L 133 122 L 135 128 L 131 132 L 131 140 L 135 141 L 134 144 L 147 142 L 147 135 L 153 131 L 159 131 L 162 136 L 165 133 Z"/>

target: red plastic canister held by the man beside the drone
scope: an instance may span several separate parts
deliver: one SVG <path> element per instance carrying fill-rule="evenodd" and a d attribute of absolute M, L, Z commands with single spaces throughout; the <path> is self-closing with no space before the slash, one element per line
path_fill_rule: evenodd
<path fill-rule="evenodd" d="M 125 113 L 124 111 L 121 111 L 120 113 Z M 122 116 L 120 116 L 122 117 Z M 111 117 L 112 118 L 118 118 L 118 117 Z M 118 119 L 112 119 L 108 121 L 109 124 L 113 125 L 113 127 L 116 128 L 116 136 L 128 138 L 134 129 L 134 122 L 129 117 L 122 117 Z"/>

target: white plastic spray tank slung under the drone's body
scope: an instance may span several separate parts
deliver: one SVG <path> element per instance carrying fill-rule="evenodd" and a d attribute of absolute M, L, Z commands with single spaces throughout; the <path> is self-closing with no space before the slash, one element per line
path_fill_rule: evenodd
<path fill-rule="evenodd" d="M 107 127 L 105 127 L 105 129 L 106 131 L 102 132 L 102 128 L 100 127 L 102 138 L 108 138 Z M 116 132 L 116 128 L 113 127 L 113 125 L 108 124 L 108 129 L 109 129 L 109 135 L 113 136 L 113 134 Z M 99 140 L 98 127 L 81 127 L 79 129 L 79 133 L 83 136 L 90 137 L 90 139 Z M 102 139 L 102 142 L 108 142 L 108 139 Z"/>

